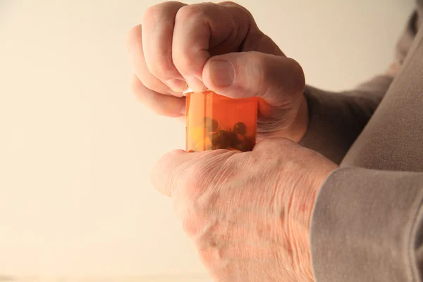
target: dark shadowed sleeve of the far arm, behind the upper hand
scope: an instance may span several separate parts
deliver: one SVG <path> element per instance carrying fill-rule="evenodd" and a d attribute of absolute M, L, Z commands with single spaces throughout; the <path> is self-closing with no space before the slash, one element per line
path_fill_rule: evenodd
<path fill-rule="evenodd" d="M 417 12 L 398 39 L 395 61 L 384 75 L 378 75 L 354 90 L 329 92 L 307 85 L 309 128 L 300 145 L 340 164 L 383 99 L 407 55 L 417 32 Z"/>

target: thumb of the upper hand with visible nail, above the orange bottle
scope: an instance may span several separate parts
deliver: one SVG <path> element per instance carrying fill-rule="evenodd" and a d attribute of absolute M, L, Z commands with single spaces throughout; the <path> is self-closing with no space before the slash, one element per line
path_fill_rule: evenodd
<path fill-rule="evenodd" d="M 232 98 L 260 97 L 271 106 L 283 106 L 286 99 L 297 97 L 305 88 L 297 61 L 257 51 L 213 56 L 204 65 L 202 77 L 216 93 Z"/>

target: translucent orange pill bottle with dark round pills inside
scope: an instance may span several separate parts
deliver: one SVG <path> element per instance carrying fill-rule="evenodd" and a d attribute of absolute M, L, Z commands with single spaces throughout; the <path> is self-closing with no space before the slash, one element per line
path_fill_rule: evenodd
<path fill-rule="evenodd" d="M 186 150 L 251 151 L 256 143 L 258 99 L 233 99 L 212 91 L 185 91 Z"/>

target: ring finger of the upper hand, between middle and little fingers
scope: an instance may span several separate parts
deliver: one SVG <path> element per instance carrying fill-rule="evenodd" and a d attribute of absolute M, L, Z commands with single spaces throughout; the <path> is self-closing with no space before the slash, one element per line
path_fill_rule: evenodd
<path fill-rule="evenodd" d="M 171 90 L 167 85 L 164 85 L 163 82 L 149 72 L 147 65 L 145 64 L 144 51 L 142 48 L 141 25 L 136 25 L 131 28 L 128 33 L 128 54 L 134 73 L 145 87 L 161 94 L 172 94 L 177 97 L 181 96 L 180 93 Z"/>

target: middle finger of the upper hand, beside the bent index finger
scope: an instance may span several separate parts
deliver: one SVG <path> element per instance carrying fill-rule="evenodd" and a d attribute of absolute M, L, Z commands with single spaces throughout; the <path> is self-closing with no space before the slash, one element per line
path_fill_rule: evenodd
<path fill-rule="evenodd" d="M 173 91 L 183 92 L 187 84 L 172 61 L 172 37 L 176 13 L 186 4 L 164 2 L 151 6 L 142 19 L 142 46 L 150 73 Z"/>

